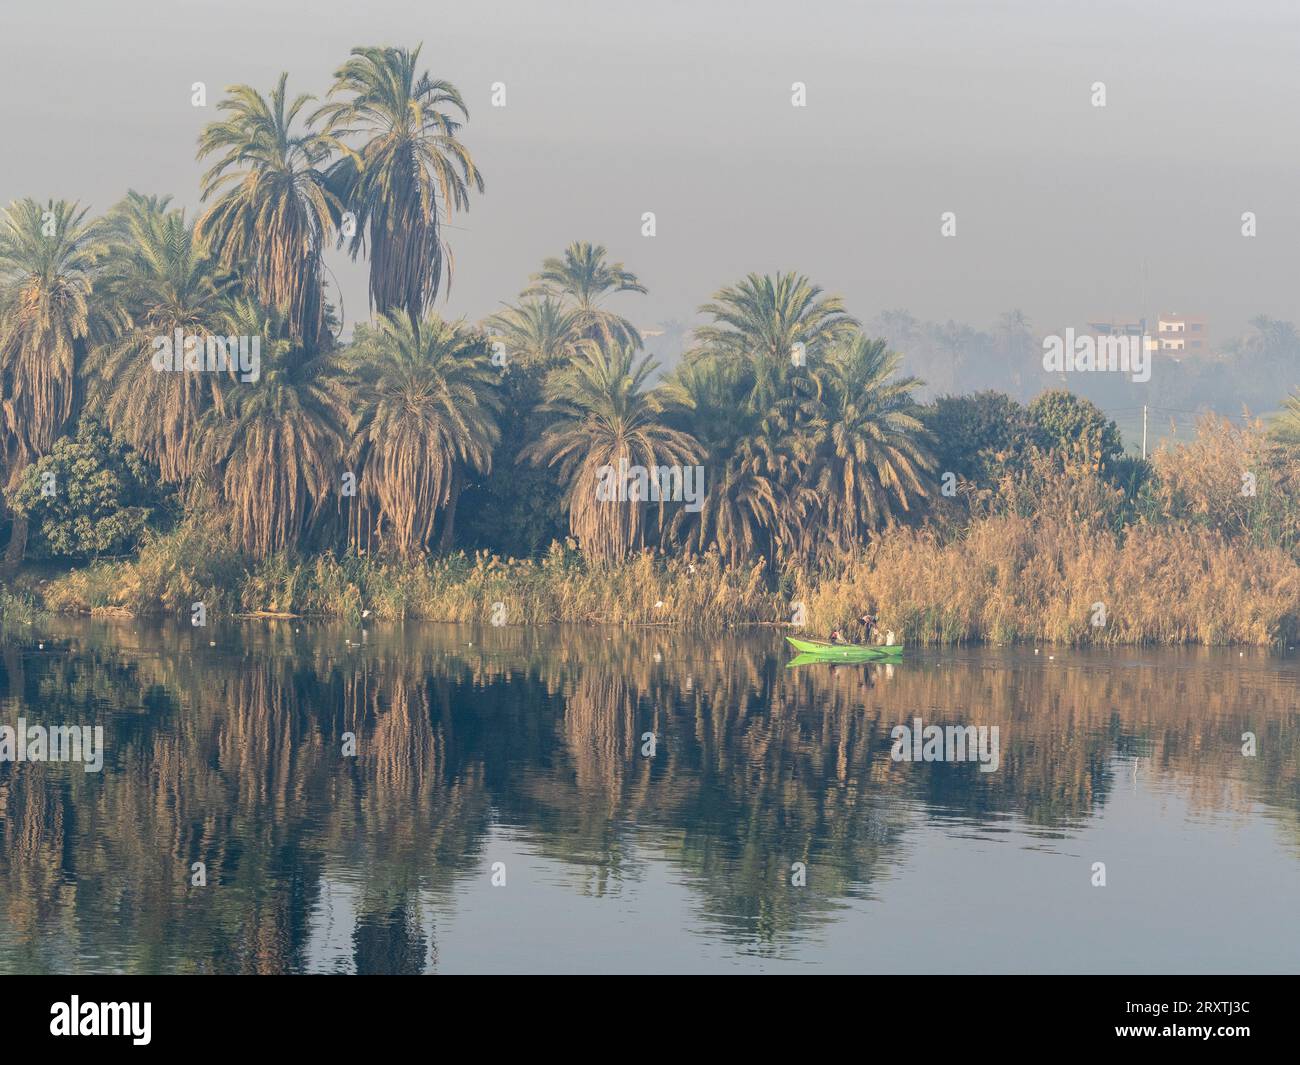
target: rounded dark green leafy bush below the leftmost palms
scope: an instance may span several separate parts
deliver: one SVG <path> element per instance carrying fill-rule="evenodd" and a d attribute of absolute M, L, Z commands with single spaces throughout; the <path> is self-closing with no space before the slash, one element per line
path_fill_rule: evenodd
<path fill-rule="evenodd" d="M 91 417 L 23 471 L 9 506 L 31 521 L 34 554 L 57 558 L 122 554 L 165 518 L 155 472 Z"/>

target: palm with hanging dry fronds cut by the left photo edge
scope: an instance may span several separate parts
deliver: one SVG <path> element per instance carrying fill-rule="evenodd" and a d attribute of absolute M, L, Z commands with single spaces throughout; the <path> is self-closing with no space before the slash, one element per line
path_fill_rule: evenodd
<path fill-rule="evenodd" d="M 0 460 L 8 485 L 72 421 L 78 373 L 101 325 L 91 299 L 103 264 L 99 226 L 66 200 L 16 200 L 0 212 Z M 13 519 L 5 568 L 22 559 Z"/>

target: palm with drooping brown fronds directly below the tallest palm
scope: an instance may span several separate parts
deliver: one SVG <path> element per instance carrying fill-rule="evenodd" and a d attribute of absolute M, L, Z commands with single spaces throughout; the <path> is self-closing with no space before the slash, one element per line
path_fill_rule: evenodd
<path fill-rule="evenodd" d="M 367 395 L 356 427 L 360 482 L 390 523 L 393 546 L 411 558 L 445 507 L 450 541 L 460 469 L 491 468 L 497 375 L 482 339 L 439 317 L 416 325 L 394 311 L 354 346 Z"/>

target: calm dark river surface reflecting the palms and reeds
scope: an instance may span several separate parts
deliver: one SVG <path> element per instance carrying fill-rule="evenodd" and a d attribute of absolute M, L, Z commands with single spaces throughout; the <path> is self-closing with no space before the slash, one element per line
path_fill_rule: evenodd
<path fill-rule="evenodd" d="M 100 724 L 107 756 L 0 762 L 0 971 L 1300 970 L 1294 653 L 789 658 L 767 631 L 23 628 L 0 724 Z M 918 715 L 997 726 L 998 770 L 893 761 Z"/>

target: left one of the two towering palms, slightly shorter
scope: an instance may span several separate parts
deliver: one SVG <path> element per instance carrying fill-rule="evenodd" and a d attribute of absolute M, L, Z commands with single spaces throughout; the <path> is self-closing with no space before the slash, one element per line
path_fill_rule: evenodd
<path fill-rule="evenodd" d="M 290 337 L 313 350 L 325 324 L 321 254 L 342 209 L 320 168 L 347 150 L 309 124 L 294 130 L 315 98 L 286 103 L 287 79 L 280 75 L 270 100 L 237 85 L 217 104 L 230 117 L 199 137 L 199 159 L 216 153 L 217 161 L 203 176 L 203 200 L 216 199 L 196 231 L 260 303 L 286 317 Z"/>

